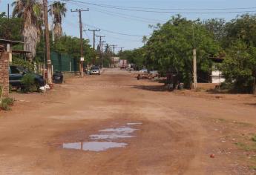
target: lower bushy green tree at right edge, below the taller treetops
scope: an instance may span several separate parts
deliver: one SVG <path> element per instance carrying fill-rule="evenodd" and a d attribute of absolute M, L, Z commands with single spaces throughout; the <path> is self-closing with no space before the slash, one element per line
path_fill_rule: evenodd
<path fill-rule="evenodd" d="M 226 53 L 222 65 L 226 82 L 231 84 L 232 90 L 236 92 L 252 92 L 256 76 L 256 47 L 237 40 L 226 50 Z"/>

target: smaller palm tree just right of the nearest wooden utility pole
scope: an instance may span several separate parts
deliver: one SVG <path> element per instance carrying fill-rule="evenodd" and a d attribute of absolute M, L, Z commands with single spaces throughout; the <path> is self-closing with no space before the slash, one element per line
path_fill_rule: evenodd
<path fill-rule="evenodd" d="M 61 3 L 59 1 L 54 1 L 52 4 L 52 8 L 50 8 L 50 16 L 53 15 L 53 32 L 56 39 L 62 36 L 62 16 L 66 16 L 67 8 L 65 7 L 65 3 Z"/>

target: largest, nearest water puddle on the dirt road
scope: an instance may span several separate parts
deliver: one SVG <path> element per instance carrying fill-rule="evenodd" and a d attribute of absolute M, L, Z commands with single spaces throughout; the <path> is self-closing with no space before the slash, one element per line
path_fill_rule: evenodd
<path fill-rule="evenodd" d="M 63 143 L 62 148 L 82 151 L 106 151 L 110 148 L 125 148 L 127 143 L 116 142 L 76 142 Z"/>

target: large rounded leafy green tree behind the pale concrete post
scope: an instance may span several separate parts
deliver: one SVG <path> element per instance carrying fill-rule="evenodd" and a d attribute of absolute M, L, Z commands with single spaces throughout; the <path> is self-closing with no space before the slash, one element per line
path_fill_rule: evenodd
<path fill-rule="evenodd" d="M 172 17 L 167 23 L 157 26 L 148 39 L 145 45 L 146 64 L 162 72 L 176 70 L 185 86 L 190 87 L 194 47 L 197 48 L 198 70 L 209 73 L 212 67 L 209 57 L 217 56 L 220 46 L 201 22 L 192 22 L 181 16 Z"/>

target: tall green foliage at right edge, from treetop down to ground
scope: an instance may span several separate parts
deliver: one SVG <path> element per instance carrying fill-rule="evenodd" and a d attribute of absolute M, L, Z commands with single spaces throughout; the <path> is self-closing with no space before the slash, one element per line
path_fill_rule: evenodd
<path fill-rule="evenodd" d="M 223 48 L 226 59 L 221 67 L 232 90 L 252 92 L 256 77 L 256 16 L 238 16 L 225 26 Z"/>

